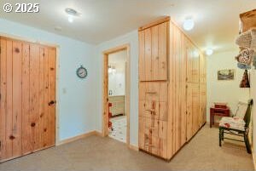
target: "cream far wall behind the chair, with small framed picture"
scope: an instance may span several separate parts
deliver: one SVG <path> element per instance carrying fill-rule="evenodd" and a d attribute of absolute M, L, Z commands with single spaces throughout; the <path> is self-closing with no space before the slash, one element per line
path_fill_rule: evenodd
<path fill-rule="evenodd" d="M 239 88 L 244 70 L 236 66 L 237 54 L 238 50 L 207 56 L 207 122 L 213 102 L 227 102 L 231 112 L 235 112 L 238 101 L 247 101 L 250 97 L 249 88 Z M 218 81 L 217 71 L 223 69 L 235 69 L 235 80 Z"/>

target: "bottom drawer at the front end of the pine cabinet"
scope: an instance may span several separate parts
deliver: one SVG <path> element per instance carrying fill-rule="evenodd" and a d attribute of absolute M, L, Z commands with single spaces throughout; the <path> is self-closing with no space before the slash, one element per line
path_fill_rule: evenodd
<path fill-rule="evenodd" d="M 167 140 L 158 137 L 141 134 L 139 148 L 159 157 L 167 157 Z"/>

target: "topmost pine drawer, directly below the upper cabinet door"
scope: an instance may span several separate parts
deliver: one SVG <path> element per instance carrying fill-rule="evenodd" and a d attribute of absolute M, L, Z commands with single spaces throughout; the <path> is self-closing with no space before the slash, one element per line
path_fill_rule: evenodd
<path fill-rule="evenodd" d="M 149 82 L 139 84 L 140 100 L 167 101 L 168 86 L 166 82 Z"/>

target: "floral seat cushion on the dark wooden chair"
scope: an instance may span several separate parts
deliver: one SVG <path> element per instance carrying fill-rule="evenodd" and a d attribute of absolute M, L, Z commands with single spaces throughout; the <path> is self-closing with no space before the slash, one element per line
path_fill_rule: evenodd
<path fill-rule="evenodd" d="M 222 117 L 219 122 L 219 127 L 233 128 L 244 131 L 245 122 L 240 117 Z"/>

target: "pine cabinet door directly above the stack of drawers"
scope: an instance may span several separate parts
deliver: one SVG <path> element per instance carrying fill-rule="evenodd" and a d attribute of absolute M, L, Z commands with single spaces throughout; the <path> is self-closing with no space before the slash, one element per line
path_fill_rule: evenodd
<path fill-rule="evenodd" d="M 168 22 L 139 31 L 140 81 L 167 80 Z"/>

